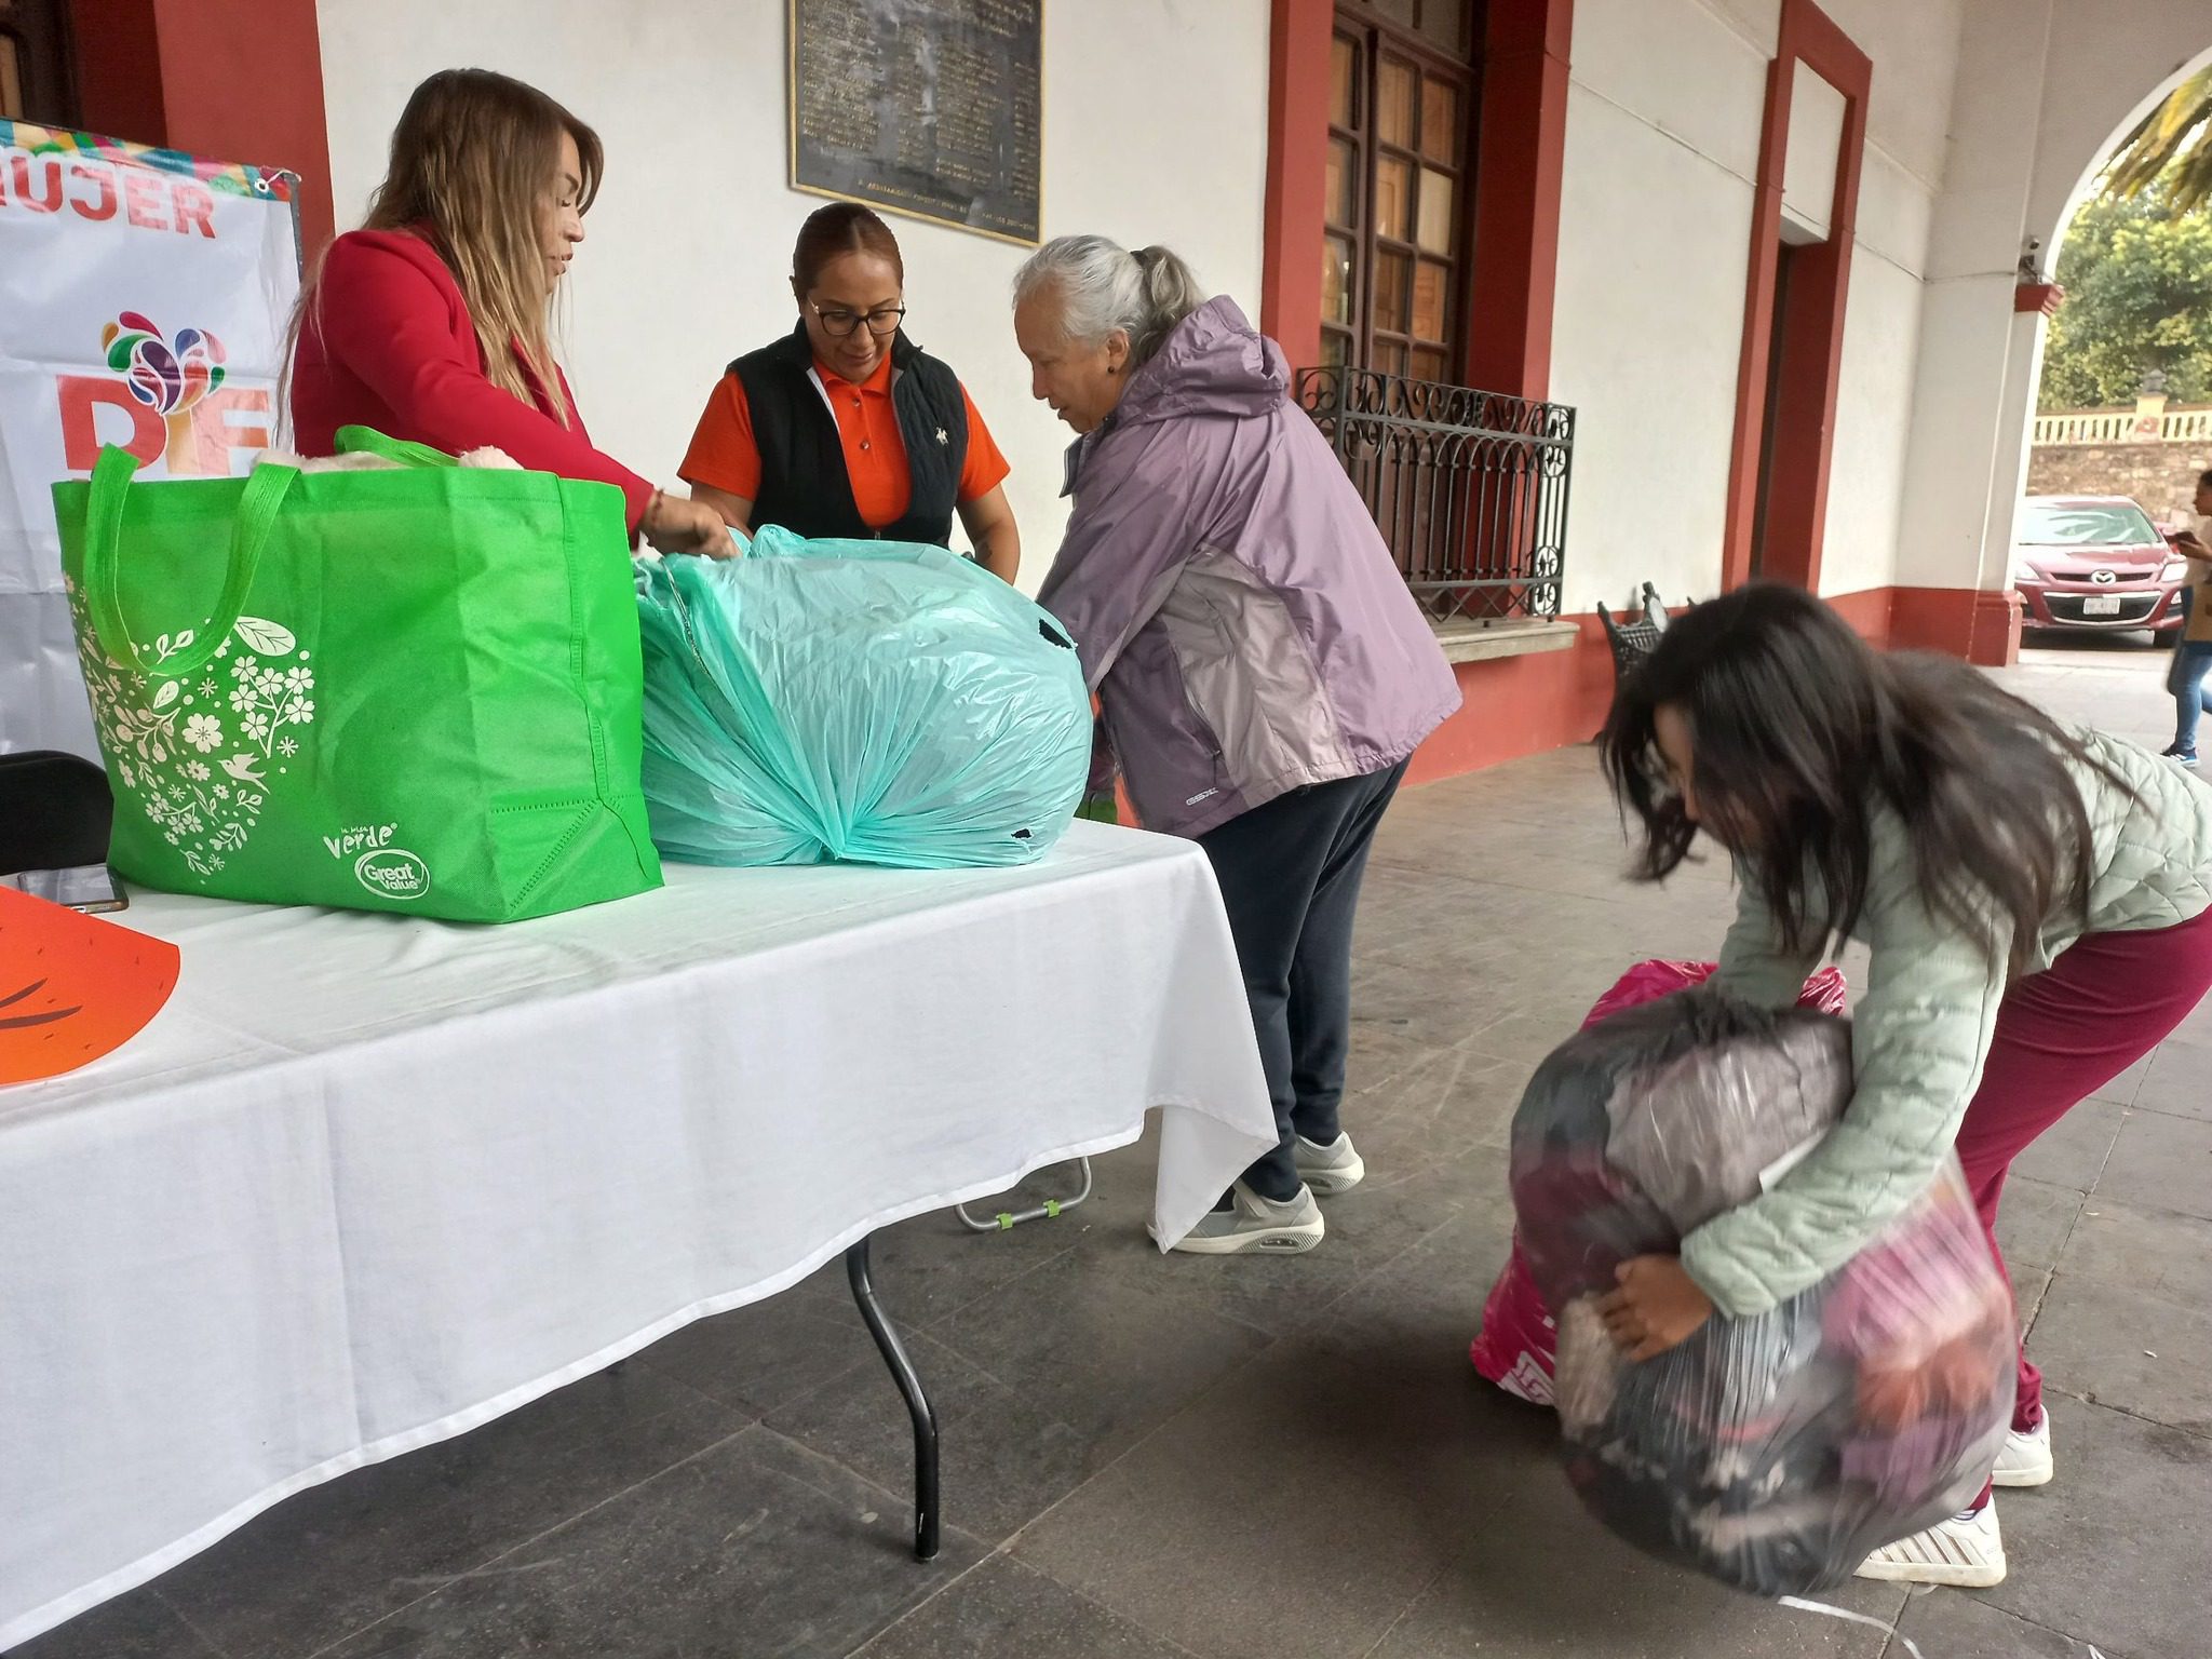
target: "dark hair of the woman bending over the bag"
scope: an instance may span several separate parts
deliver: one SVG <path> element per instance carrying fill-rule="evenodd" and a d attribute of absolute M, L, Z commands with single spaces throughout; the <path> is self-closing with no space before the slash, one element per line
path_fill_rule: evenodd
<path fill-rule="evenodd" d="M 1803 588 L 1686 611 L 1621 684 L 1599 739 L 1621 816 L 1644 827 L 1641 880 L 1670 876 L 1697 838 L 1659 752 L 1666 706 L 1688 717 L 1699 803 L 1790 949 L 1858 925 L 1878 807 L 1905 821 L 1920 902 L 1993 964 L 2024 969 L 2059 905 L 2086 920 L 2095 843 L 2066 763 L 2128 785 L 1966 664 L 1878 657 Z"/>

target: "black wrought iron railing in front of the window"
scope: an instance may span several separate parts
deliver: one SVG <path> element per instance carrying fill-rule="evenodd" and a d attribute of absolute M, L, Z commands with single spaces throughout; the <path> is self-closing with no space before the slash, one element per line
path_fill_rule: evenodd
<path fill-rule="evenodd" d="M 1371 369 L 1305 369 L 1298 403 L 1438 622 L 1559 615 L 1575 411 Z"/>

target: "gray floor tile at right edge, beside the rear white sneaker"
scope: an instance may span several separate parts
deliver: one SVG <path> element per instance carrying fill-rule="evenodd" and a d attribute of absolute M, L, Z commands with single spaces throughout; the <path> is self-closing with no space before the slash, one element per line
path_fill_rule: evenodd
<path fill-rule="evenodd" d="M 2068 1394 L 2212 1436 L 2212 1312 L 2110 1281 L 2051 1281 L 2028 1358 Z"/>

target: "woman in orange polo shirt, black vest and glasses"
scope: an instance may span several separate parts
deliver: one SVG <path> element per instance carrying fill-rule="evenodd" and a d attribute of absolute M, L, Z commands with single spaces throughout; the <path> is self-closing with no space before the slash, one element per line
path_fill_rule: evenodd
<path fill-rule="evenodd" d="M 1013 582 L 1022 538 L 1006 458 L 967 389 L 900 330 L 905 265 L 889 226 L 849 201 L 812 215 L 792 252 L 799 327 L 737 358 L 708 398 L 684 482 L 739 533 L 951 544 Z"/>

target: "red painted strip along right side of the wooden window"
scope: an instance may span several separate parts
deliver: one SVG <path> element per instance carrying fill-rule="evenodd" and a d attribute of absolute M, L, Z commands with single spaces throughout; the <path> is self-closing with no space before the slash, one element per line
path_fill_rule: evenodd
<path fill-rule="evenodd" d="M 1575 0 L 1491 0 L 1475 135 L 1475 257 L 1467 283 L 1467 385 L 1551 394 L 1559 188 Z"/>

